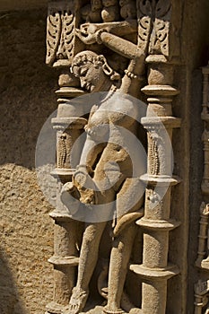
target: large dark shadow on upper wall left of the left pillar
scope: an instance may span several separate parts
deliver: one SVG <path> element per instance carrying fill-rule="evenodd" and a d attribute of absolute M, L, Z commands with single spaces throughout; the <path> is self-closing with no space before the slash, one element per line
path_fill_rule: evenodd
<path fill-rule="evenodd" d="M 46 18 L 47 7 L 0 16 L 0 164 L 33 169 L 39 131 L 57 109 L 58 76 L 44 60 Z"/>

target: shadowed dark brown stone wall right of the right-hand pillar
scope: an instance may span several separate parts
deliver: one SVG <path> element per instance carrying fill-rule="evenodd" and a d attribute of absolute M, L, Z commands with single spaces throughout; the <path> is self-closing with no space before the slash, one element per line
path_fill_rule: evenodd
<path fill-rule="evenodd" d="M 169 281 L 170 314 L 194 313 L 194 284 L 199 276 L 195 262 L 204 170 L 201 66 L 207 65 L 209 59 L 208 12 L 208 1 L 184 1 L 181 64 L 176 71 L 180 94 L 173 105 L 174 115 L 182 119 L 173 138 L 174 173 L 182 182 L 174 188 L 171 201 L 171 213 L 182 223 L 170 232 L 170 260 L 181 272 Z"/>

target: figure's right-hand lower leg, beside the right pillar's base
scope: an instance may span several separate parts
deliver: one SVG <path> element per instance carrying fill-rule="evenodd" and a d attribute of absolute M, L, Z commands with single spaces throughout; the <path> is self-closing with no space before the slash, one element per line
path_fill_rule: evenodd
<path fill-rule="evenodd" d="M 105 313 L 119 313 L 121 310 L 120 301 L 136 231 L 135 222 L 131 223 L 114 240 L 109 262 L 109 296 Z"/>

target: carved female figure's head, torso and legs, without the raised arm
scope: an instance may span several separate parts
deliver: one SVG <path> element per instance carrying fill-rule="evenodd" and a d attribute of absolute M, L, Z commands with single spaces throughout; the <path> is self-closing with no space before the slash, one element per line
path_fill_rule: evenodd
<path fill-rule="evenodd" d="M 80 165 L 74 173 L 74 182 L 63 189 L 63 194 L 66 191 L 76 194 L 87 211 L 91 211 L 92 205 L 102 208 L 98 210 L 98 222 L 86 224 L 77 283 L 66 313 L 80 313 L 85 306 L 100 238 L 107 221 L 114 218 L 113 213 L 116 213 L 117 225 L 109 263 L 108 305 L 104 312 L 123 313 L 120 302 L 136 231 L 135 223 L 131 222 L 142 216 L 142 211 L 136 210 L 143 204 L 144 194 L 139 180 L 145 172 L 143 154 L 135 146 L 138 108 L 135 101 L 117 92 L 119 75 L 109 67 L 105 57 L 83 51 L 74 57 L 72 72 L 87 91 L 109 92 L 91 109 Z M 128 138 L 126 132 L 131 134 Z M 135 150 L 138 164 L 135 174 L 131 150 Z"/>

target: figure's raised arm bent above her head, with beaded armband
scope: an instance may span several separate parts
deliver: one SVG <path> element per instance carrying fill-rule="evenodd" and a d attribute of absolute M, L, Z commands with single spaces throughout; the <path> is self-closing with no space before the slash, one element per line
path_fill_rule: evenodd
<path fill-rule="evenodd" d="M 103 44 L 118 55 L 130 60 L 122 79 L 120 91 L 138 98 L 140 81 L 144 80 L 145 57 L 147 46 L 141 48 L 138 43 L 122 38 L 127 33 L 137 33 L 137 22 L 85 23 L 77 30 L 77 36 L 85 44 Z"/>

